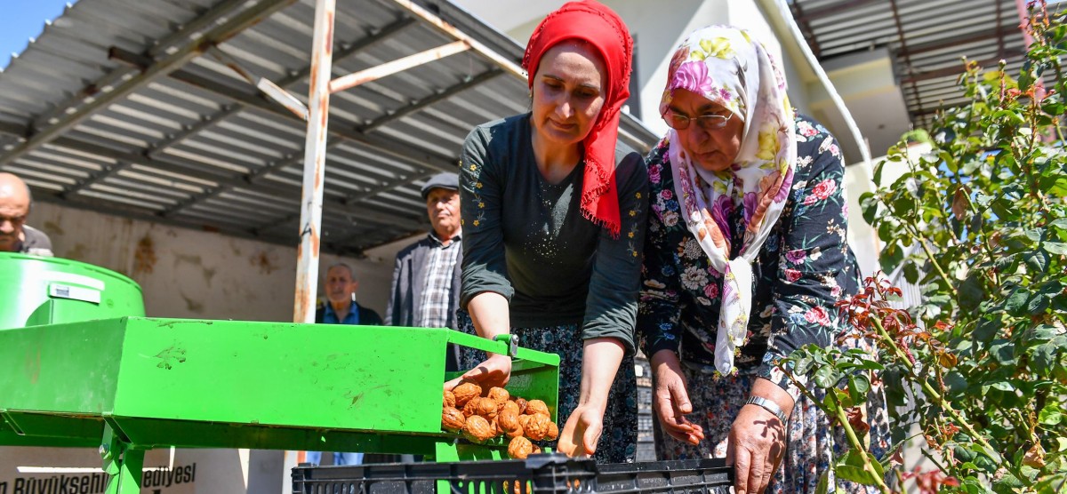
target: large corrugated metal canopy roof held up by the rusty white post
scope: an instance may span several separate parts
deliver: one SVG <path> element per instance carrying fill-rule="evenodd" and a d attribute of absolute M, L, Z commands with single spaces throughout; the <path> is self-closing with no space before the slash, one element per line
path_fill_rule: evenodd
<path fill-rule="evenodd" d="M 334 77 L 456 42 L 402 2 L 340 0 Z M 455 170 L 476 125 L 527 111 L 501 67 L 523 47 L 447 1 L 415 1 L 466 50 L 335 93 L 322 250 L 360 254 L 428 228 L 419 187 Z M 296 245 L 312 0 L 80 0 L 0 74 L 0 169 L 35 198 Z M 494 61 L 496 58 L 496 61 Z M 646 152 L 655 134 L 624 115 Z"/>

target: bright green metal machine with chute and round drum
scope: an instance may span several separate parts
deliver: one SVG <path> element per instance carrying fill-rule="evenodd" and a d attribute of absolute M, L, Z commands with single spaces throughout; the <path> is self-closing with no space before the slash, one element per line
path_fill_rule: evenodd
<path fill-rule="evenodd" d="M 145 450 L 170 446 L 499 459 L 500 440 L 441 430 L 450 342 L 512 355 L 508 391 L 556 418 L 559 356 L 514 339 L 145 318 L 136 283 L 65 259 L 0 254 L 0 280 L 16 305 L 0 315 L 0 445 L 98 447 L 111 494 L 140 492 Z"/>

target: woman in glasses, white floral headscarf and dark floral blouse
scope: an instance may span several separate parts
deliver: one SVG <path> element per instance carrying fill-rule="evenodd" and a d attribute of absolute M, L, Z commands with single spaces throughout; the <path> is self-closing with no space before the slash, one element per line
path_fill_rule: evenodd
<path fill-rule="evenodd" d="M 812 492 L 830 472 L 831 428 L 775 362 L 831 345 L 844 326 L 833 303 L 857 288 L 841 152 L 794 114 L 770 55 L 735 28 L 682 43 L 659 110 L 671 129 L 647 159 L 637 324 L 657 452 L 724 457 L 738 493 Z M 885 411 L 870 419 L 878 449 Z"/>

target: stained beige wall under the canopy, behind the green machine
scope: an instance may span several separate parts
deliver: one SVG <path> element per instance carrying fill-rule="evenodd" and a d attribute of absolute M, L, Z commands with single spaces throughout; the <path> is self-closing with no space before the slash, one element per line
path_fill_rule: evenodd
<path fill-rule="evenodd" d="M 34 204 L 29 224 L 52 240 L 58 257 L 130 276 L 154 317 L 292 320 L 296 246 L 129 220 L 48 203 Z M 296 238 L 296 235 L 293 235 Z M 402 245 L 401 245 L 402 246 Z M 321 275 L 333 262 L 352 267 L 356 300 L 385 310 L 399 246 L 366 259 L 323 255 Z"/>

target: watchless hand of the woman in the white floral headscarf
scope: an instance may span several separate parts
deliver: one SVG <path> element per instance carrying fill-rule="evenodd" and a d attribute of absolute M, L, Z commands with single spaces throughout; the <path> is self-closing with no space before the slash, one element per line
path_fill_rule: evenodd
<path fill-rule="evenodd" d="M 664 431 L 679 441 L 697 445 L 704 440 L 704 429 L 685 418 L 692 413 L 689 393 L 678 355 L 659 350 L 652 355 L 652 410 Z"/>

